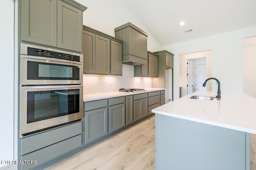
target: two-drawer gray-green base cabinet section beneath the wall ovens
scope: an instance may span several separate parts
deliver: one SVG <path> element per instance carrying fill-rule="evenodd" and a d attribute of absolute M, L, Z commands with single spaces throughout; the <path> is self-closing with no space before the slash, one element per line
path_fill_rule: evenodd
<path fill-rule="evenodd" d="M 42 132 L 21 139 L 21 160 L 36 160 L 22 164 L 22 170 L 35 168 L 66 152 L 82 146 L 82 122 Z"/>

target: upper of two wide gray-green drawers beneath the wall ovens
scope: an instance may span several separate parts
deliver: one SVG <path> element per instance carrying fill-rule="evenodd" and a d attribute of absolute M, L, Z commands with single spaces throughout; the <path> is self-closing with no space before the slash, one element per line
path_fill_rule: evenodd
<path fill-rule="evenodd" d="M 82 133 L 82 122 L 21 139 L 21 154 L 27 154 Z M 80 141 L 82 142 L 82 141 Z"/>

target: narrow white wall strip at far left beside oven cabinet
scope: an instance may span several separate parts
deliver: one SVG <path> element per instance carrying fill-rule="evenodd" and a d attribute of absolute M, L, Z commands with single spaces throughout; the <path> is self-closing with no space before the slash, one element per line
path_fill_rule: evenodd
<path fill-rule="evenodd" d="M 13 160 L 14 133 L 14 3 L 0 6 L 0 160 Z M 0 164 L 0 167 L 5 164 Z"/>

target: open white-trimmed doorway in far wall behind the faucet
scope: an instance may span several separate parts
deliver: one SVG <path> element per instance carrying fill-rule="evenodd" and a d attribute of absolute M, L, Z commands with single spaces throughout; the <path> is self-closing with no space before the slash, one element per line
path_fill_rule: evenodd
<path fill-rule="evenodd" d="M 195 91 L 212 91 L 212 83 L 206 88 L 201 85 L 206 78 L 211 77 L 212 51 L 202 51 L 180 55 L 180 78 L 181 97 Z"/>

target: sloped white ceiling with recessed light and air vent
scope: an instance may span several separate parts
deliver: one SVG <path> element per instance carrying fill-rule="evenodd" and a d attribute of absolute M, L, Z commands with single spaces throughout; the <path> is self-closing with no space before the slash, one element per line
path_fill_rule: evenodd
<path fill-rule="evenodd" d="M 256 26 L 256 0 L 121 1 L 160 45 Z"/>

